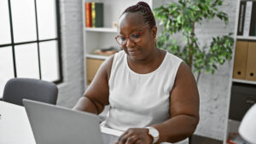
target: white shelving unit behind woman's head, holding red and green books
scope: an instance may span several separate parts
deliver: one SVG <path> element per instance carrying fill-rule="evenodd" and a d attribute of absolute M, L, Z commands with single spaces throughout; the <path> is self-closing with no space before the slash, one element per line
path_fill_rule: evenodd
<path fill-rule="evenodd" d="M 118 35 L 118 30 L 113 28 L 113 23 L 117 23 L 119 16 L 129 6 L 140 1 L 148 3 L 151 9 L 160 7 L 163 3 L 168 3 L 172 0 L 83 0 L 83 41 L 84 41 L 84 79 L 87 82 L 87 59 L 106 60 L 108 56 L 94 54 L 96 49 L 115 47 L 119 48 L 114 37 Z M 99 2 L 103 3 L 103 27 L 85 27 L 85 3 Z M 84 88 L 88 85 L 85 83 Z"/>

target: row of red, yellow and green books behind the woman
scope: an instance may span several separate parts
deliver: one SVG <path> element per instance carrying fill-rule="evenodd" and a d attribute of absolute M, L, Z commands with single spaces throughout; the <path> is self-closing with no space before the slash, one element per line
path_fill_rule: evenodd
<path fill-rule="evenodd" d="M 103 3 L 87 2 L 85 4 L 85 26 L 103 27 Z"/>

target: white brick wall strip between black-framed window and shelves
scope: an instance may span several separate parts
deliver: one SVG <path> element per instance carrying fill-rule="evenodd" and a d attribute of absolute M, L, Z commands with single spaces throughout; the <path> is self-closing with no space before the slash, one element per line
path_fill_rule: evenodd
<path fill-rule="evenodd" d="M 73 107 L 84 92 L 82 1 L 60 0 L 64 82 L 59 84 L 58 105 Z"/>

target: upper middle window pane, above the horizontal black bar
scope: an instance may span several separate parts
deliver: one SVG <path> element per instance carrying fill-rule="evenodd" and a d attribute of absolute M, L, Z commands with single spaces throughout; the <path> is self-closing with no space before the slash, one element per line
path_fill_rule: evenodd
<path fill-rule="evenodd" d="M 11 0 L 11 9 L 15 43 L 37 40 L 34 0 Z"/>

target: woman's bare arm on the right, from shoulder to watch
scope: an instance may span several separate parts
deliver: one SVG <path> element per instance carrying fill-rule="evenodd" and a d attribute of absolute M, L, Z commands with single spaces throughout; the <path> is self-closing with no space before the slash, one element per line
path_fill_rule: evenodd
<path fill-rule="evenodd" d="M 192 135 L 199 123 L 199 93 L 194 75 L 184 63 L 178 68 L 170 94 L 171 118 L 163 124 L 154 124 L 159 130 L 159 141 L 177 142 Z"/>

